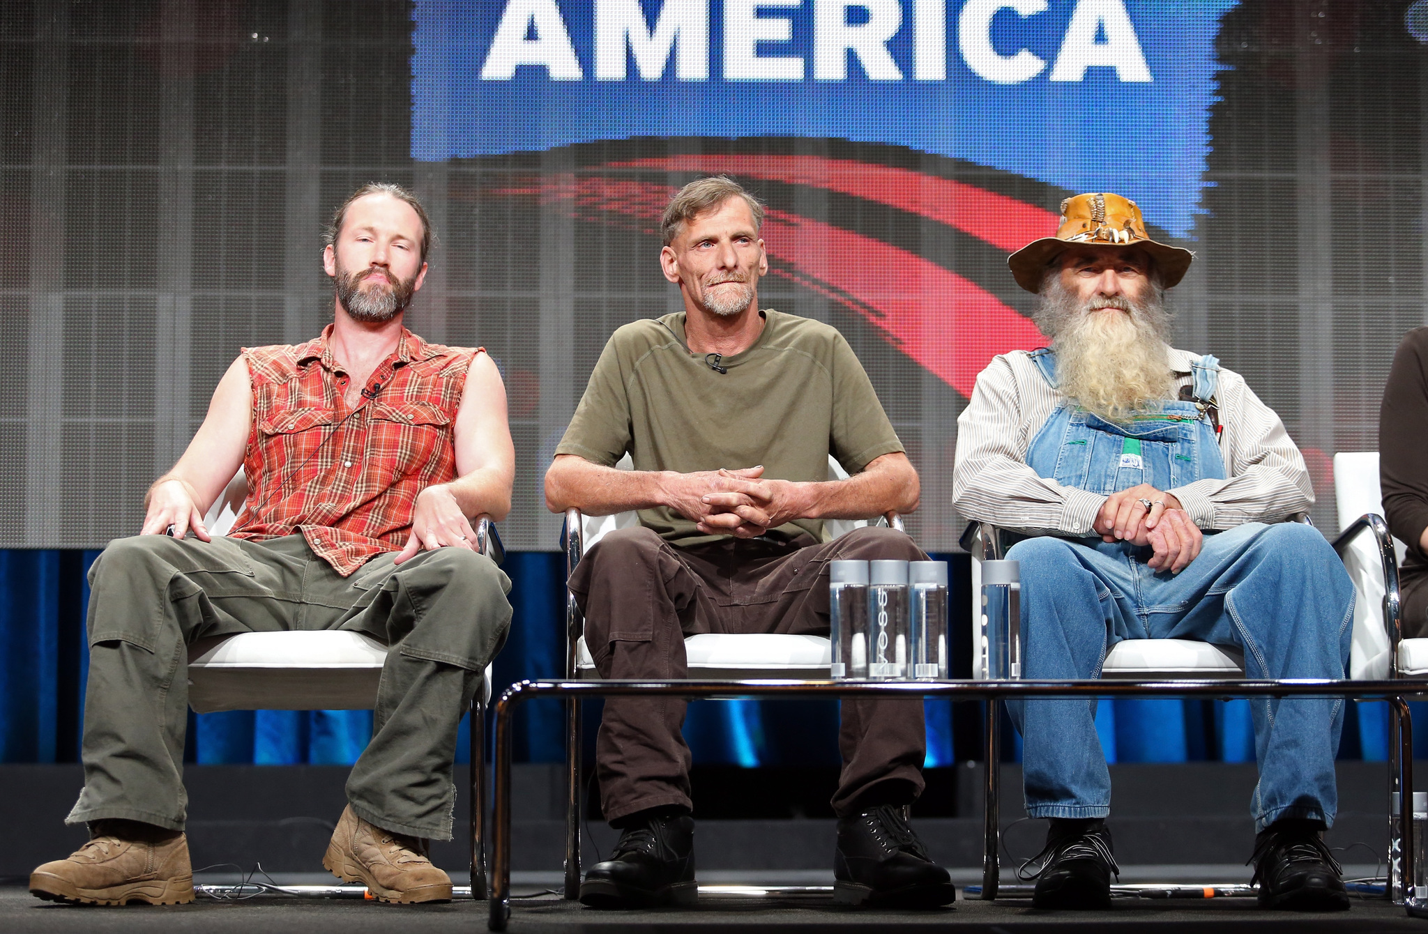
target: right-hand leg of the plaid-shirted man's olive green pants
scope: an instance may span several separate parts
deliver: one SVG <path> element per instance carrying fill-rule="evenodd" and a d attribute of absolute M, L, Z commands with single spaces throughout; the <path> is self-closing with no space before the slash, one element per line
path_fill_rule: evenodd
<path fill-rule="evenodd" d="M 466 548 L 423 551 L 384 573 L 391 560 L 378 556 L 353 576 L 370 590 L 340 623 L 391 647 L 373 738 L 347 780 L 347 800 L 384 830 L 450 840 L 457 731 L 506 641 L 511 581 Z"/>

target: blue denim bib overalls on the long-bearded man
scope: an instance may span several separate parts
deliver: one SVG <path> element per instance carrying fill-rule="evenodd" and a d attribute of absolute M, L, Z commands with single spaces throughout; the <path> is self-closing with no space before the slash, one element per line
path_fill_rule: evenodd
<path fill-rule="evenodd" d="M 1055 356 L 1032 353 L 1051 386 Z M 1062 486 L 1100 494 L 1148 483 L 1174 490 L 1225 478 L 1208 417 L 1218 388 L 1212 356 L 1191 364 L 1191 400 L 1112 424 L 1071 404 L 1035 434 L 1027 464 Z M 1151 548 L 1042 536 L 1015 544 L 1021 561 L 1022 677 L 1097 678 L 1127 638 L 1194 638 L 1244 651 L 1254 677 L 1341 678 L 1348 661 L 1354 586 L 1311 526 L 1248 523 L 1207 534 L 1180 574 L 1145 563 Z M 1007 701 L 1024 738 L 1031 817 L 1105 817 L 1111 780 L 1095 733 L 1095 701 Z M 1332 823 L 1334 757 L 1342 701 L 1255 698 L 1259 784 L 1251 813 L 1262 830 L 1279 817 Z"/>

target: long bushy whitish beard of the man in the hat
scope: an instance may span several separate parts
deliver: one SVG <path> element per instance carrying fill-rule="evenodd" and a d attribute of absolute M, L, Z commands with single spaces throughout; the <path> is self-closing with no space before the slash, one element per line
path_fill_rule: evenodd
<path fill-rule="evenodd" d="M 1092 306 L 1120 311 L 1092 313 Z M 1081 301 L 1048 276 L 1035 321 L 1057 353 L 1057 388 L 1087 411 L 1120 421 L 1158 410 L 1170 398 L 1170 314 L 1161 288 L 1140 301 L 1124 296 Z"/>

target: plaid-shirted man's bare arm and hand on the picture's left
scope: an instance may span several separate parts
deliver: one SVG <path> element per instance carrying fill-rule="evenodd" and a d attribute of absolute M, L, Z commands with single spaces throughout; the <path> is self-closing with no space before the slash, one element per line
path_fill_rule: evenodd
<path fill-rule="evenodd" d="M 174 527 L 183 538 L 191 527 L 208 541 L 203 516 L 243 466 L 243 451 L 253 426 L 253 381 L 248 364 L 238 357 L 218 380 L 208 414 L 173 470 L 156 480 L 144 496 L 141 536 L 163 534 Z"/>

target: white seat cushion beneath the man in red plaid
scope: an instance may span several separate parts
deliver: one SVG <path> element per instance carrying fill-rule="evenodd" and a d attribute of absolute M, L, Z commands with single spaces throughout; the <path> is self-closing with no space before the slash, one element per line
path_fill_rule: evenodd
<path fill-rule="evenodd" d="M 188 663 L 188 705 L 218 710 L 370 710 L 387 648 L 361 633 L 240 633 Z"/>

